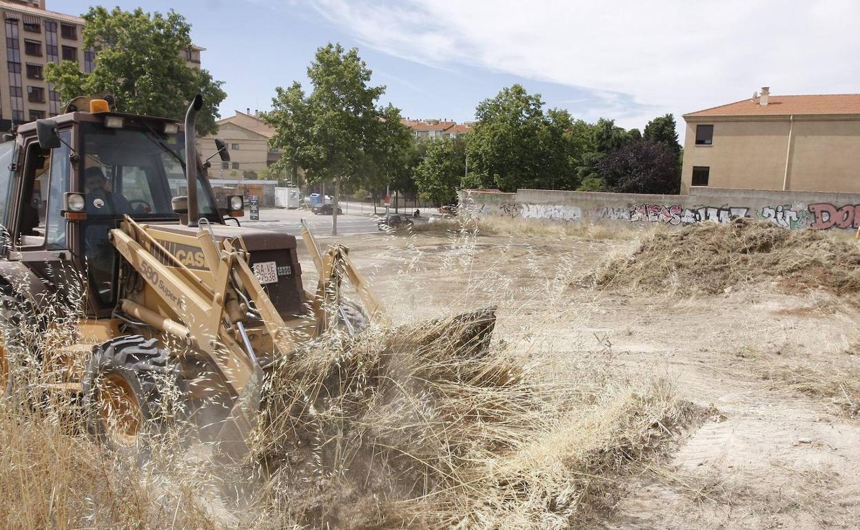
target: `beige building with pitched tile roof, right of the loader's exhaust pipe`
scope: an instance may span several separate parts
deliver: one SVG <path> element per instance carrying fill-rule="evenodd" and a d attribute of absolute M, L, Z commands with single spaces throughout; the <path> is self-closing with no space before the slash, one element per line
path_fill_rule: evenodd
<path fill-rule="evenodd" d="M 278 160 L 279 151 L 268 148 L 268 139 L 274 136 L 272 127 L 251 114 L 250 109 L 245 113 L 236 111 L 234 116 L 220 119 L 216 123 L 216 134 L 197 139 L 198 152 L 204 159 L 214 155 L 214 138 L 220 138 L 227 145 L 230 161 L 222 162 L 218 156 L 212 157 L 212 169 L 209 172 L 211 176 L 239 179 L 245 171 L 260 174 L 262 169 Z"/>

